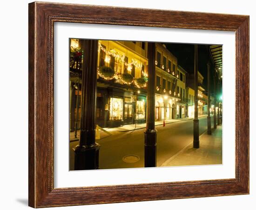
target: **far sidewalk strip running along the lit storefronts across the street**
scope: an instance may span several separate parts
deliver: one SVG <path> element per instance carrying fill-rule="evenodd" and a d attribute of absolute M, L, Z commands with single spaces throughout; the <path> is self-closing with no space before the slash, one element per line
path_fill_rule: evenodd
<path fill-rule="evenodd" d="M 206 117 L 206 116 L 207 115 L 201 115 L 198 118 L 202 118 L 202 117 Z M 176 123 L 176 122 L 180 122 L 183 120 L 189 120 L 189 119 L 194 119 L 194 118 L 166 119 L 165 124 Z M 155 126 L 158 126 L 158 125 L 163 125 L 163 120 L 155 121 Z M 100 128 L 99 131 L 100 131 L 100 137 L 105 138 L 110 135 L 119 134 L 120 132 L 134 131 L 134 130 L 139 130 L 139 129 L 143 129 L 143 128 L 146 128 L 146 123 L 136 124 L 136 128 L 135 128 L 135 124 L 131 124 L 131 125 L 123 125 L 121 127 L 115 127 L 115 128 Z M 96 130 L 96 132 L 97 132 L 97 130 Z M 80 130 L 77 131 L 76 139 L 74 138 L 74 132 L 69 133 L 70 141 L 78 140 L 79 136 L 80 136 Z"/>

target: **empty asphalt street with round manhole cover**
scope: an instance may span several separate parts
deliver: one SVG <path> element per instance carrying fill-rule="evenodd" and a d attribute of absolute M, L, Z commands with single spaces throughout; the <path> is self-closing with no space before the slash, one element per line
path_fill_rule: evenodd
<path fill-rule="evenodd" d="M 213 116 L 211 116 L 213 127 Z M 181 151 L 193 141 L 193 119 L 156 126 L 157 130 L 157 166 Z M 207 130 L 207 117 L 199 118 L 199 135 Z M 96 140 L 101 145 L 99 169 L 137 168 L 144 167 L 144 131 L 118 132 Z M 101 131 L 102 133 L 102 131 Z M 74 170 L 73 148 L 78 141 L 70 143 L 70 170 Z M 123 160 L 126 158 L 126 162 Z M 136 160 L 139 159 L 138 161 Z M 136 162 L 135 162 L 136 161 Z M 131 163 L 135 162 L 135 163 Z"/>

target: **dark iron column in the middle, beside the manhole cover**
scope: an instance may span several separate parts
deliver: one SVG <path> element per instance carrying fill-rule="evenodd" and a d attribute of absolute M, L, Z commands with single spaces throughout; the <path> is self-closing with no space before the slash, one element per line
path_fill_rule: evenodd
<path fill-rule="evenodd" d="M 145 167 L 156 166 L 155 43 L 148 42 L 148 96 L 145 137 Z"/>

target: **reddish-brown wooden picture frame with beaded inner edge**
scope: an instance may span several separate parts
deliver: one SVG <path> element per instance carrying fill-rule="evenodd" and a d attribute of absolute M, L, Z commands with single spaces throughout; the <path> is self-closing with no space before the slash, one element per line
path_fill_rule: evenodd
<path fill-rule="evenodd" d="M 54 22 L 236 32 L 236 178 L 54 188 Z M 29 206 L 249 194 L 249 16 L 33 2 L 29 4 Z"/>

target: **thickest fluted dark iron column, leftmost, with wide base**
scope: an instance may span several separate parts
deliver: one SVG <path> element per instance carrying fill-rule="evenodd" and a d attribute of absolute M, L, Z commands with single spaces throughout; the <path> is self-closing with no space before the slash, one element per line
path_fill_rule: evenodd
<path fill-rule="evenodd" d="M 81 133 L 74 148 L 74 170 L 98 169 L 100 145 L 95 142 L 98 41 L 81 40 L 82 64 Z"/>

